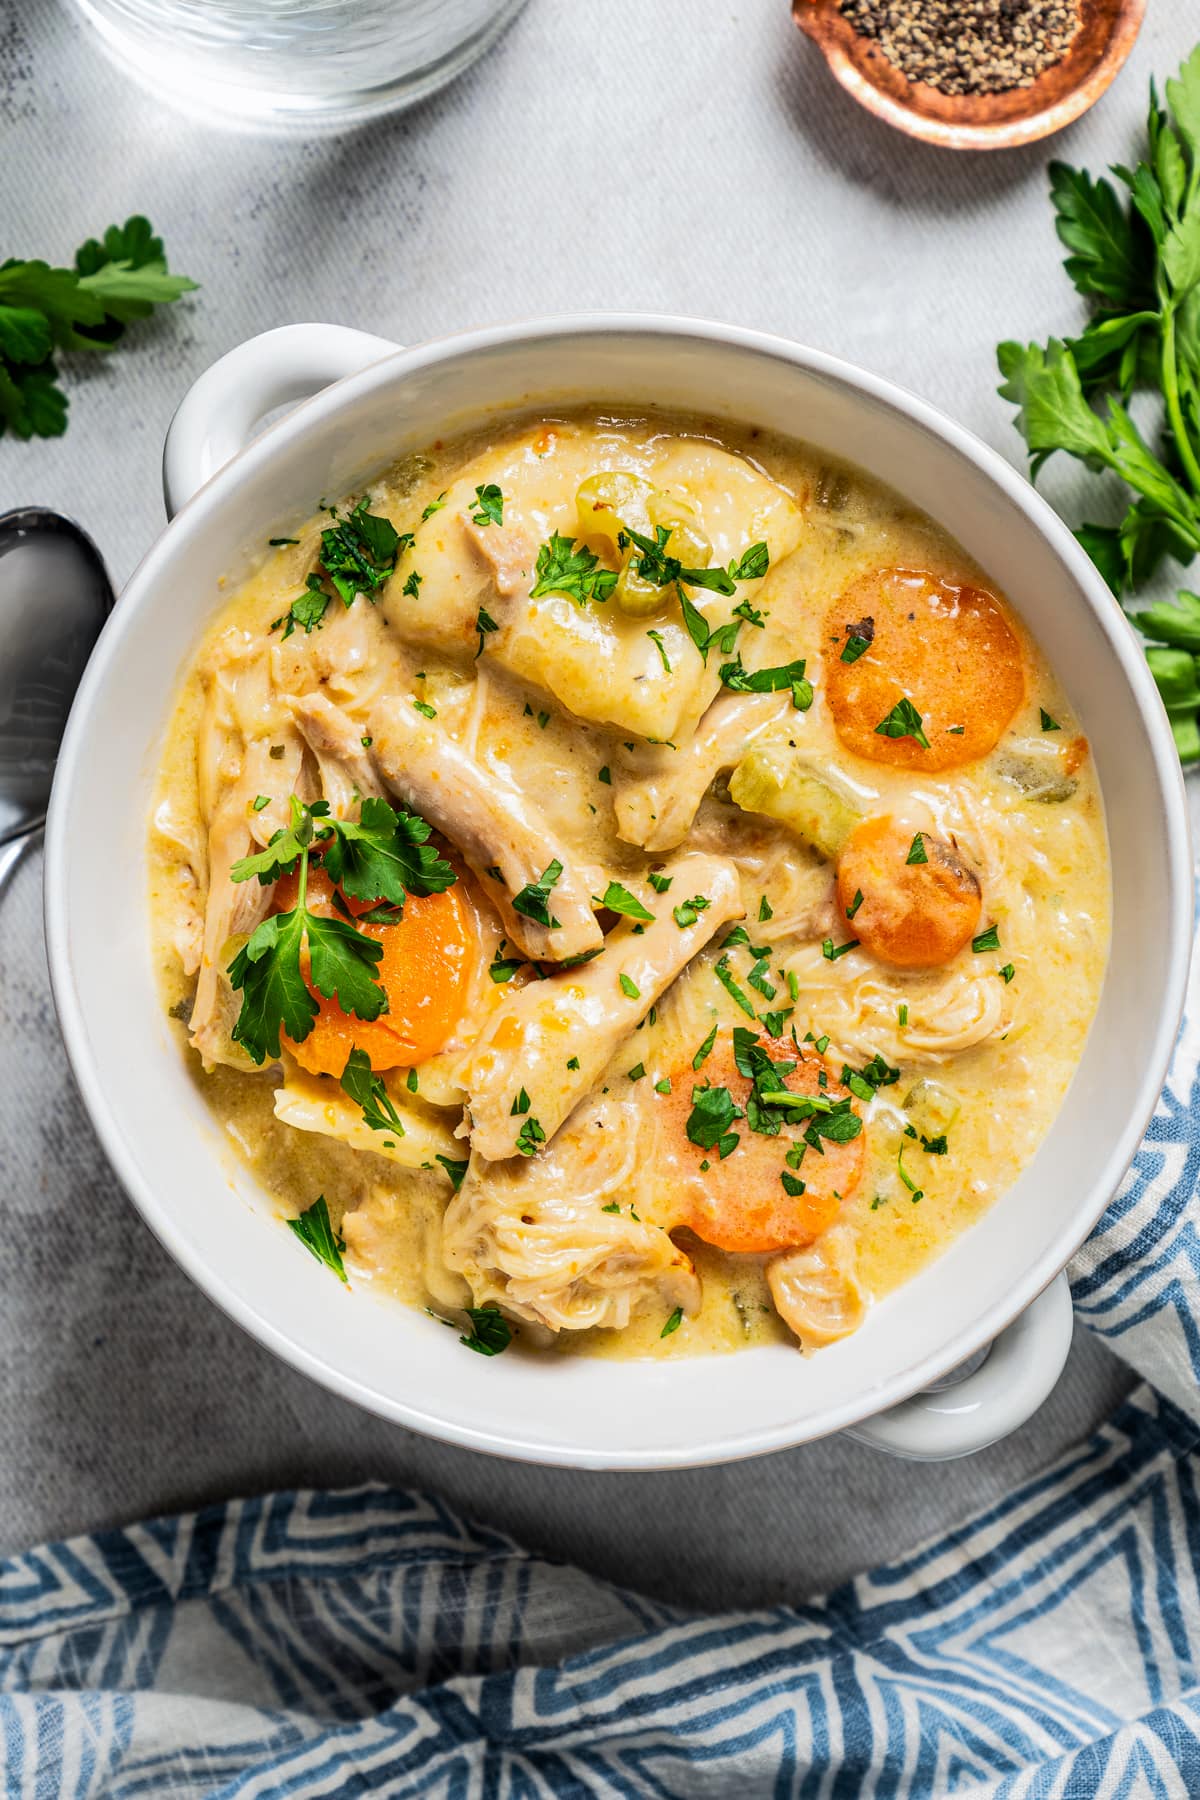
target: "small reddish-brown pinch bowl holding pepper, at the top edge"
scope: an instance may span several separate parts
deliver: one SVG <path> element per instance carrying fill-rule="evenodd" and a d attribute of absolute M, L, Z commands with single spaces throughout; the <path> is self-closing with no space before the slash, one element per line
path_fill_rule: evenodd
<path fill-rule="evenodd" d="M 1061 131 L 1099 99 L 1133 49 L 1146 0 L 1079 0 L 1083 23 L 1061 61 L 1006 94 L 941 94 L 909 81 L 842 16 L 838 0 L 793 0 L 792 11 L 846 92 L 876 119 L 943 149 L 1011 149 Z"/>

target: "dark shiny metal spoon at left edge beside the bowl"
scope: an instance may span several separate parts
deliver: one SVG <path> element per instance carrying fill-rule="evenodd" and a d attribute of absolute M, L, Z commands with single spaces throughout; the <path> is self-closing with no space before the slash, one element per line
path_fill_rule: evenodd
<path fill-rule="evenodd" d="M 0 895 L 45 824 L 70 702 L 112 605 L 79 526 L 40 506 L 0 515 Z"/>

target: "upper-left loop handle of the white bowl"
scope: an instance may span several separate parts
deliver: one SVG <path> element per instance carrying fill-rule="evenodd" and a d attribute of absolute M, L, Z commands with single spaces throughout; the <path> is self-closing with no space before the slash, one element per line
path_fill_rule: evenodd
<path fill-rule="evenodd" d="M 309 400 L 399 349 L 349 326 L 279 326 L 246 338 L 184 394 L 162 450 L 167 518 L 255 436 L 268 412 Z"/>

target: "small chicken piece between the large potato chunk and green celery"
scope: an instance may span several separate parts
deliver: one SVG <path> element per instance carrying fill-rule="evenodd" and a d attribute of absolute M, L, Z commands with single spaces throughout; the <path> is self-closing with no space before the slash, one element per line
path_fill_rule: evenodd
<path fill-rule="evenodd" d="M 617 833 L 644 850 L 675 850 L 687 837 L 712 779 L 792 707 L 786 693 L 730 693 L 714 700 L 691 743 L 637 745 L 613 781 Z"/>

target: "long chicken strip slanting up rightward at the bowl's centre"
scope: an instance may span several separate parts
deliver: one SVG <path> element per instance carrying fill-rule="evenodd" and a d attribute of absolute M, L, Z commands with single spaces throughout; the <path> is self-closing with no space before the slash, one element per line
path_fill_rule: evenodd
<path fill-rule="evenodd" d="M 594 961 L 513 992 L 471 1051 L 462 1084 L 471 1147 L 480 1156 L 515 1156 L 531 1120 L 552 1138 L 680 970 L 721 925 L 745 916 L 732 862 L 680 857 L 666 873 L 680 902 L 693 895 L 707 898 L 694 923 L 680 929 L 671 905 L 646 887 L 639 898 L 644 905 L 657 904 L 653 925 L 637 936 L 633 922 L 622 920 Z M 525 1107 L 515 1112 L 522 1093 Z"/>

